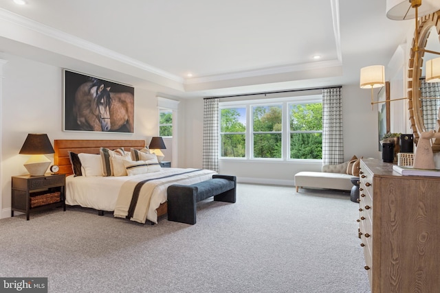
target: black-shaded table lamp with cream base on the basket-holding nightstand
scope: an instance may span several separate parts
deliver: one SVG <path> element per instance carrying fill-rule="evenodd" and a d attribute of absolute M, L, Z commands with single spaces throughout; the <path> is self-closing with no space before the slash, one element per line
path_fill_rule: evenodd
<path fill-rule="evenodd" d="M 51 161 L 45 154 L 54 154 L 54 148 L 47 134 L 28 134 L 19 154 L 31 154 L 24 164 L 31 176 L 43 176 Z"/>

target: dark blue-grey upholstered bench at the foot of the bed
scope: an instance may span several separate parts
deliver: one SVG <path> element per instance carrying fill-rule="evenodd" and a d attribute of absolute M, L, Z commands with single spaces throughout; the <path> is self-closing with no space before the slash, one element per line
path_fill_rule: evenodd
<path fill-rule="evenodd" d="M 214 196 L 215 201 L 236 201 L 236 177 L 212 175 L 193 185 L 170 185 L 167 189 L 168 221 L 195 224 L 196 203 Z"/>

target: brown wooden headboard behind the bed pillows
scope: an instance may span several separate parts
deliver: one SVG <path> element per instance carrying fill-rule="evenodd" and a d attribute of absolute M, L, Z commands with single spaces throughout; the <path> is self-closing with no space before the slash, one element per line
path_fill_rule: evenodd
<path fill-rule="evenodd" d="M 144 148 L 145 141 L 142 139 L 109 140 L 109 139 L 55 139 L 54 141 L 54 164 L 60 167 L 60 173 L 73 174 L 68 151 L 87 154 L 99 154 L 99 148 L 124 148 L 129 152 L 131 148 L 140 150 Z"/>

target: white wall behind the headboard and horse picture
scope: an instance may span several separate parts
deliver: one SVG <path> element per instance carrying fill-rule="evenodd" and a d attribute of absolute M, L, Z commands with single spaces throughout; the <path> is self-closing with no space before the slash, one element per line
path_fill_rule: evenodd
<path fill-rule="evenodd" d="M 10 216 L 11 176 L 28 174 L 28 156 L 19 150 L 28 133 L 47 133 L 49 139 L 149 139 L 157 135 L 156 93 L 135 89 L 135 133 L 109 134 L 63 131 L 63 76 L 60 67 L 1 54 L 1 218 Z M 100 76 L 100 78 L 106 78 Z M 53 159 L 53 155 L 48 155 Z"/>

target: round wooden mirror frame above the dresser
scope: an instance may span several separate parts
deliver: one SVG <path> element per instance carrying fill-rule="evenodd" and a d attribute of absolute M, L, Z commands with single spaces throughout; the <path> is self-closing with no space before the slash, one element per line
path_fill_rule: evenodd
<path fill-rule="evenodd" d="M 420 78 L 423 67 L 423 56 L 425 54 L 426 43 L 432 27 L 436 27 L 437 34 L 440 35 L 440 10 L 426 16 L 419 17 L 419 30 L 412 38 L 410 59 L 408 62 L 408 110 L 410 112 L 410 124 L 414 134 L 414 142 L 417 145 L 419 134 L 426 131 L 421 113 L 421 91 Z M 416 40 L 417 38 L 417 40 Z M 440 151 L 434 150 L 433 151 Z"/>

